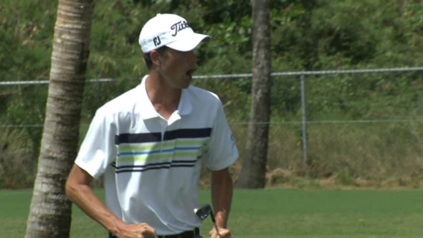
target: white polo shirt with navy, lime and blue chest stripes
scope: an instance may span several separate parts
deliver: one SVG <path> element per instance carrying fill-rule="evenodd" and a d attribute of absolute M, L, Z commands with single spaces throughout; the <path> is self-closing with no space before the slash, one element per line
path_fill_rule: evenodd
<path fill-rule="evenodd" d="M 193 209 L 202 160 L 221 170 L 238 150 L 215 94 L 183 89 L 166 120 L 148 98 L 147 77 L 97 110 L 75 163 L 96 179 L 105 175 L 106 205 L 123 221 L 178 234 L 201 225 Z"/>

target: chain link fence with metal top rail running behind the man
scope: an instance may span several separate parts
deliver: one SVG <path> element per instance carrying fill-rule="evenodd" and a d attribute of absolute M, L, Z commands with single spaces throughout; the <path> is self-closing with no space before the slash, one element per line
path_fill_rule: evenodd
<path fill-rule="evenodd" d="M 270 185 L 295 185 L 299 178 L 308 177 L 347 185 L 419 186 L 422 71 L 423 67 L 274 72 L 271 120 L 255 122 L 249 122 L 252 74 L 196 75 L 194 85 L 221 98 L 241 160 L 248 124 L 269 123 Z M 94 96 L 84 101 L 84 108 L 91 110 L 82 116 L 81 139 L 95 108 L 116 96 L 108 90 L 121 87 L 115 79 L 87 81 L 86 95 Z M 138 81 L 134 79 L 134 85 Z M 12 97 L 16 104 L 24 104 L 24 97 L 47 96 L 48 83 L 0 82 L 0 100 Z M 121 87 L 119 93 L 124 90 Z M 36 171 L 44 115 L 42 110 L 6 115 L 11 111 L 4 106 L 0 108 L 4 115 L 0 117 L 0 188 L 28 186 Z M 6 123 L 6 117 L 16 123 Z M 235 175 L 241 160 L 232 168 Z"/>

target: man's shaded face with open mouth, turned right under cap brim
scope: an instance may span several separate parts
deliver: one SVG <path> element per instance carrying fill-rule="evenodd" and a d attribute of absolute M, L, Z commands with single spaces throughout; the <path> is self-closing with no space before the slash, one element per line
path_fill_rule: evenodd
<path fill-rule="evenodd" d="M 158 70 L 166 82 L 175 88 L 187 88 L 197 61 L 193 51 L 181 52 L 168 48 L 161 56 Z"/>

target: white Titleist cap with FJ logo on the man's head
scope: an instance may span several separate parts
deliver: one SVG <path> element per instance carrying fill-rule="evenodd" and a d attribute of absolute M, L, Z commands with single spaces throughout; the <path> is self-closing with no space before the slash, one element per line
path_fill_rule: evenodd
<path fill-rule="evenodd" d="M 177 51 L 191 51 L 210 36 L 195 33 L 182 17 L 157 14 L 148 20 L 139 33 L 138 43 L 143 53 L 167 46 Z"/>

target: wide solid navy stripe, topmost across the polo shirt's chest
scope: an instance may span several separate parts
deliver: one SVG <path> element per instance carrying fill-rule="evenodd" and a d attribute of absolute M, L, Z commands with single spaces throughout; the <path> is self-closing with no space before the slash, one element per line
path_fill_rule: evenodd
<path fill-rule="evenodd" d="M 178 138 L 204 138 L 211 135 L 211 130 L 211 128 L 170 130 L 165 132 L 164 140 L 173 140 Z M 160 142 L 161 140 L 162 134 L 160 132 L 137 134 L 123 133 L 120 135 L 115 135 L 116 145 L 122 143 Z"/>

